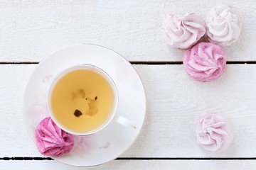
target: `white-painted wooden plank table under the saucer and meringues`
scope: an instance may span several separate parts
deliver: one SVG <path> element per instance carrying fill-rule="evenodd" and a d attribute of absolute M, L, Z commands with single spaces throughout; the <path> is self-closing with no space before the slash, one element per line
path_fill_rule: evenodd
<path fill-rule="evenodd" d="M 166 45 L 161 21 L 173 11 L 206 18 L 222 3 L 242 11 L 240 40 L 224 48 L 223 77 L 194 81 L 183 70 L 184 50 Z M 43 157 L 21 113 L 37 63 L 79 43 L 109 47 L 132 62 L 147 96 L 146 120 L 134 145 L 92 169 L 256 169 L 255 11 L 255 0 L 0 1 L 0 169 L 80 169 Z M 212 111 L 225 115 L 235 132 L 225 152 L 206 152 L 196 143 L 193 122 Z"/>

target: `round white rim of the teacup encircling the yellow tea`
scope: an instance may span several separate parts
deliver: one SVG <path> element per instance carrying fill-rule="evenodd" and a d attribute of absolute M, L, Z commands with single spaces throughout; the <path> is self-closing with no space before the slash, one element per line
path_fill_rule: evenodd
<path fill-rule="evenodd" d="M 68 128 L 65 128 L 63 125 L 61 125 L 61 123 L 58 122 L 58 120 L 56 120 L 53 111 L 51 109 L 51 94 L 53 92 L 53 89 L 55 87 L 55 84 L 66 74 L 73 72 L 75 70 L 78 69 L 89 69 L 92 70 L 94 72 L 97 72 L 98 74 L 100 74 L 102 77 L 104 77 L 107 82 L 110 84 L 111 88 L 112 88 L 112 92 L 113 92 L 113 96 L 114 96 L 114 103 L 112 106 L 112 111 L 110 113 L 110 116 L 107 118 L 107 120 L 105 120 L 104 123 L 102 123 L 102 125 L 98 126 L 97 128 L 93 129 L 93 130 L 89 130 L 89 131 L 85 131 L 85 132 L 75 132 L 73 130 L 68 130 Z M 48 106 L 48 111 L 50 113 L 50 118 L 53 120 L 53 122 L 58 125 L 58 127 L 62 130 L 64 130 L 65 132 L 68 132 L 72 135 L 92 135 L 95 134 L 96 132 L 99 132 L 100 130 L 104 129 L 107 125 L 110 124 L 110 122 L 113 120 L 114 115 L 117 113 L 117 106 L 118 106 L 118 92 L 117 92 L 117 86 L 114 83 L 113 79 L 110 77 L 109 74 L 107 74 L 107 72 L 105 72 L 103 69 L 101 69 L 100 67 L 97 67 L 95 65 L 92 64 L 76 64 L 76 65 L 72 65 L 70 67 L 67 67 L 66 69 L 63 69 L 62 71 L 58 72 L 58 74 L 55 75 L 55 77 L 53 77 L 53 81 L 50 84 L 50 87 L 48 89 L 48 95 L 47 95 L 47 106 Z"/>

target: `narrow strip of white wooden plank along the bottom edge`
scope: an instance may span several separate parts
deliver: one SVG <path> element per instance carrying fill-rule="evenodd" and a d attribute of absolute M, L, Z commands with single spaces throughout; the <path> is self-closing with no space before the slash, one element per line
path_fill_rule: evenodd
<path fill-rule="evenodd" d="M 1 169 L 85 169 L 82 167 L 68 166 L 55 161 L 1 161 Z M 178 160 L 114 160 L 107 164 L 94 166 L 88 169 L 225 169 L 225 170 L 240 170 L 240 169 L 255 169 L 256 162 L 252 160 L 247 161 L 178 161 Z"/>

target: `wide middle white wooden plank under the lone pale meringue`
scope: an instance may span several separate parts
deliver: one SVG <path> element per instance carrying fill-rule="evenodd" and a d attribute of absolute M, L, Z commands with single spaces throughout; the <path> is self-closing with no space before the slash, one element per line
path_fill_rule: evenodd
<path fill-rule="evenodd" d="M 36 65 L 0 64 L 0 157 L 41 157 L 21 114 L 23 91 Z M 256 157 L 256 64 L 228 64 L 217 81 L 190 79 L 182 65 L 134 65 L 146 89 L 147 113 L 137 141 L 121 157 Z M 225 152 L 196 143 L 201 113 L 223 113 L 235 138 Z"/>

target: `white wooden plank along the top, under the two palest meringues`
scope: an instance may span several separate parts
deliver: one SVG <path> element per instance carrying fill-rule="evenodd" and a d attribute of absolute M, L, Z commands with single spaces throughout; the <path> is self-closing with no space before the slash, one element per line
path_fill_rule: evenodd
<path fill-rule="evenodd" d="M 129 61 L 181 61 L 184 50 L 166 45 L 161 22 L 171 12 L 206 18 L 215 4 L 242 11 L 240 40 L 225 47 L 229 61 L 255 61 L 256 1 L 1 1 L 0 62 L 39 62 L 68 45 L 109 47 Z"/>

